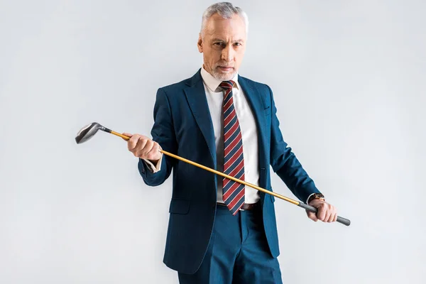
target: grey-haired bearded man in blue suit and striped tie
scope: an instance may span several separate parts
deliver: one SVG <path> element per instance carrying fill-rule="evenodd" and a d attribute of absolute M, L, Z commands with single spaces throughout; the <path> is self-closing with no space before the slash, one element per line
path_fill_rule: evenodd
<path fill-rule="evenodd" d="M 160 148 L 268 190 L 271 165 L 297 198 L 318 208 L 310 219 L 337 219 L 283 141 L 271 89 L 238 75 L 247 31 L 238 7 L 209 6 L 197 43 L 202 68 L 158 89 L 153 140 L 124 133 L 147 185 L 160 185 L 173 169 L 164 263 L 180 283 L 282 283 L 274 197 Z"/>

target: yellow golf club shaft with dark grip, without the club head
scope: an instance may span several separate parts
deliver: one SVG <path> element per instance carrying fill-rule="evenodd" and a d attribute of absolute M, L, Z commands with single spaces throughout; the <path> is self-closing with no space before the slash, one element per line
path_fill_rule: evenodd
<path fill-rule="evenodd" d="M 122 135 L 122 134 L 120 134 L 120 133 L 117 133 L 117 132 L 115 132 L 115 131 L 111 131 L 111 134 L 114 134 L 114 135 L 119 136 L 119 137 L 121 137 L 121 138 L 124 138 L 124 139 L 126 139 L 126 140 L 129 140 L 129 139 L 130 139 L 128 136 L 124 136 L 124 135 Z M 195 166 L 196 166 L 196 167 L 198 167 L 198 168 L 202 168 L 202 169 L 204 169 L 204 170 L 208 170 L 209 172 L 211 172 L 211 173 L 215 173 L 215 174 L 220 175 L 220 176 L 222 176 L 222 177 L 224 177 L 224 178 L 229 178 L 229 180 L 234 180 L 235 182 L 242 183 L 243 185 L 247 185 L 247 186 L 252 187 L 252 188 L 254 188 L 254 189 L 256 189 L 256 190 L 259 190 L 259 191 L 261 191 L 261 192 L 268 193 L 268 195 L 272 195 L 272 196 L 274 196 L 274 197 L 280 198 L 281 200 L 285 200 L 285 201 L 287 201 L 287 202 L 293 203 L 293 204 L 295 204 L 295 205 L 297 205 L 297 206 L 299 206 L 299 207 L 302 207 L 303 209 L 306 209 L 307 211 L 314 212 L 314 213 L 317 213 L 317 212 L 318 212 L 318 209 L 317 209 L 317 208 L 312 207 L 312 206 L 310 206 L 310 205 L 307 205 L 307 204 L 305 204 L 305 203 L 303 203 L 303 202 L 299 202 L 299 201 L 297 201 L 297 200 L 292 200 L 291 198 L 285 197 L 285 196 L 283 196 L 283 195 L 279 195 L 278 193 L 275 193 L 275 192 L 271 192 L 271 191 L 266 190 L 266 189 L 264 189 L 264 188 L 262 188 L 262 187 L 258 187 L 257 185 L 253 185 L 253 184 L 251 184 L 250 182 L 246 182 L 246 181 L 244 181 L 244 180 L 239 180 L 238 178 L 231 177 L 230 175 L 226 175 L 226 174 L 221 173 L 221 172 L 219 172 L 219 171 L 217 171 L 217 170 L 213 170 L 212 168 L 208 168 L 208 167 L 206 167 L 205 165 L 200 165 L 199 163 L 192 162 L 192 160 L 187 160 L 187 159 L 185 159 L 185 158 L 182 158 L 182 157 L 180 157 L 180 156 L 178 156 L 178 155 L 175 155 L 175 154 L 169 153 L 169 152 L 167 152 L 167 151 L 160 150 L 160 152 L 161 152 L 161 153 L 163 153 L 163 154 L 165 154 L 165 155 L 168 155 L 168 156 L 170 156 L 170 157 L 172 157 L 172 158 L 176 158 L 176 159 L 178 159 L 178 160 L 182 160 L 182 161 L 183 161 L 183 162 L 185 162 L 185 163 L 189 163 L 189 164 L 191 164 L 191 165 L 195 165 Z M 346 226 L 349 226 L 349 225 L 351 224 L 351 221 L 350 221 L 349 219 L 346 219 L 346 218 L 343 218 L 343 217 L 339 217 L 339 216 L 337 217 L 337 222 L 342 223 L 342 224 L 344 224 L 344 225 L 346 225 Z"/>

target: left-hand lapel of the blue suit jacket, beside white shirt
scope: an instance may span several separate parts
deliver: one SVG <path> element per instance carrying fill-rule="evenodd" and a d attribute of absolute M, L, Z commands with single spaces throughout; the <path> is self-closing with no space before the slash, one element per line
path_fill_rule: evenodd
<path fill-rule="evenodd" d="M 209 105 L 207 104 L 200 70 L 198 70 L 198 72 L 192 77 L 192 80 L 187 83 L 188 87 L 184 89 L 184 92 L 187 97 L 187 101 L 190 104 L 192 114 L 195 117 L 195 121 L 197 121 L 198 127 L 200 127 L 202 135 L 209 147 L 214 168 L 216 168 L 216 144 L 214 143 L 212 117 L 210 116 Z"/>

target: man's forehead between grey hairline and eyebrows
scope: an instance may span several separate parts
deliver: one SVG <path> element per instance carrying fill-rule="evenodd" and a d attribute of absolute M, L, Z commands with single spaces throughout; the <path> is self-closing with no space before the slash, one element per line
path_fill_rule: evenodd
<path fill-rule="evenodd" d="M 241 16 L 235 14 L 232 18 L 222 18 L 215 13 L 205 26 L 205 35 L 219 38 L 246 38 L 246 24 Z"/>

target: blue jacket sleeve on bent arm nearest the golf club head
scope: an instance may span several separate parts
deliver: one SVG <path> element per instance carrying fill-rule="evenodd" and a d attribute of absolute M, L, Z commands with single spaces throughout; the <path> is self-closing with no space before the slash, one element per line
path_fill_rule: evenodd
<path fill-rule="evenodd" d="M 163 89 L 158 89 L 155 105 L 154 105 L 154 125 L 151 130 L 153 141 L 160 144 L 164 151 L 176 153 L 178 143 L 176 142 L 175 131 L 173 127 L 173 118 L 168 101 L 167 94 Z M 161 159 L 160 170 L 153 173 L 153 170 L 139 159 L 138 170 L 146 185 L 156 186 L 161 185 L 170 176 L 175 160 L 168 155 L 164 155 Z"/>

